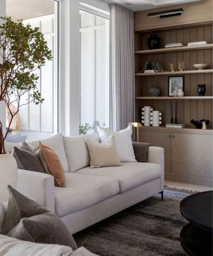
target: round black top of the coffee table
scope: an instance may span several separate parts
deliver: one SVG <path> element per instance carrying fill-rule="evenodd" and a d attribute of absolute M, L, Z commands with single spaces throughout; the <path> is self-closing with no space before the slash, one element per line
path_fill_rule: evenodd
<path fill-rule="evenodd" d="M 180 202 L 180 213 L 190 223 L 212 232 L 213 191 L 189 195 Z"/>

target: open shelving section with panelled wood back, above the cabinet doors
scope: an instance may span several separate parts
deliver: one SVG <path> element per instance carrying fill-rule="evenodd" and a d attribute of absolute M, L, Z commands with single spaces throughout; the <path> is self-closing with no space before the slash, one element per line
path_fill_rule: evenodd
<path fill-rule="evenodd" d="M 150 33 L 157 33 L 160 37 L 160 49 L 150 50 L 147 46 L 147 38 Z M 170 123 L 170 102 L 177 100 L 178 123 L 184 123 L 192 128 L 191 119 L 209 119 L 208 129 L 212 129 L 213 121 L 213 41 L 212 23 L 204 25 L 191 25 L 190 27 L 174 26 L 168 30 L 151 29 L 150 31 L 136 29 L 134 32 L 134 59 L 135 59 L 135 117 L 141 121 L 141 108 L 145 105 L 152 106 L 162 112 L 162 125 Z M 193 41 L 207 41 L 207 45 L 196 47 L 172 47 L 164 48 L 166 43 L 184 43 L 187 45 Z M 156 59 L 163 69 L 162 73 L 139 73 L 146 63 Z M 184 71 L 170 71 L 170 63 L 184 61 Z M 193 64 L 206 63 L 208 69 L 196 70 Z M 184 97 L 168 97 L 168 77 L 184 76 Z M 206 85 L 206 95 L 199 97 L 197 85 Z M 152 86 L 160 88 L 160 97 L 150 97 L 148 90 Z"/>

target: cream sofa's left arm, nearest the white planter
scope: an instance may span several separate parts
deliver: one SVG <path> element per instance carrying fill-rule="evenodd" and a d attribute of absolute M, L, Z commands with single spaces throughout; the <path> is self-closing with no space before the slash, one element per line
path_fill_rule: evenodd
<path fill-rule="evenodd" d="M 49 211 L 55 212 L 55 189 L 53 176 L 36 171 L 18 169 L 17 190 L 34 199 Z"/>

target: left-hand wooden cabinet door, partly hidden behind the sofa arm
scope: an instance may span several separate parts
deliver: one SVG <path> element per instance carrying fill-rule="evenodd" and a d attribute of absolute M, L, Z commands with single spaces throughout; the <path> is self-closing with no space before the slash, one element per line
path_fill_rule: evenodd
<path fill-rule="evenodd" d="M 155 131 L 140 131 L 140 142 L 151 143 L 156 147 L 164 148 L 165 172 L 171 172 L 171 133 Z"/>

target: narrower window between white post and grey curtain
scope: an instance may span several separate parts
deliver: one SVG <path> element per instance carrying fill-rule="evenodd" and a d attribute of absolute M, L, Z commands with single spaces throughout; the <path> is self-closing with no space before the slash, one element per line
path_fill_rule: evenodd
<path fill-rule="evenodd" d="M 109 126 L 109 20 L 80 11 L 81 125 Z"/>

